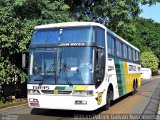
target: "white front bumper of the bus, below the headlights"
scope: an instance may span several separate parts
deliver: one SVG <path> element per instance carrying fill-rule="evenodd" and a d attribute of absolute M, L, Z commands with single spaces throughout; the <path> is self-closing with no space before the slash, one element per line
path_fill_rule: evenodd
<path fill-rule="evenodd" d="M 98 105 L 95 96 L 28 95 L 31 108 L 93 111 Z"/>

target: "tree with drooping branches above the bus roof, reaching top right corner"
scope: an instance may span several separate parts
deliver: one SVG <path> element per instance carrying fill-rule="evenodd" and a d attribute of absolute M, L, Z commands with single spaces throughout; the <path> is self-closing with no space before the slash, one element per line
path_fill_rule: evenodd
<path fill-rule="evenodd" d="M 134 19 L 141 13 L 140 4 L 153 5 L 160 0 L 66 0 L 78 21 L 104 23 L 120 36 L 133 34 Z M 109 20 L 108 20 L 109 19 Z"/>

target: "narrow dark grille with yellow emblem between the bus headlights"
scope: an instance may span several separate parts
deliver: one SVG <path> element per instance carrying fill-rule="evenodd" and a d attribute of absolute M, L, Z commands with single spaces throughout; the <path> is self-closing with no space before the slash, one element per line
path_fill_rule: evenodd
<path fill-rule="evenodd" d="M 72 91 L 66 90 L 41 90 L 43 94 L 71 94 Z"/>

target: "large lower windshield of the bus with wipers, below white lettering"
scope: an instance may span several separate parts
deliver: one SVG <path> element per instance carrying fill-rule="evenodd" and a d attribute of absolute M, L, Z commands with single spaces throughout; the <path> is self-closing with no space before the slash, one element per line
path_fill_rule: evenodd
<path fill-rule="evenodd" d="M 94 84 L 92 47 L 31 49 L 29 83 Z"/>

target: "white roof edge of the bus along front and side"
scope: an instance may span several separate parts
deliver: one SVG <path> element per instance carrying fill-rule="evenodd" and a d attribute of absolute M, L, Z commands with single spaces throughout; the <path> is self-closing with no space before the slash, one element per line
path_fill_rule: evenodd
<path fill-rule="evenodd" d="M 80 27 L 83 27 L 83 26 L 98 26 L 98 27 L 101 27 L 103 29 L 106 29 L 106 27 L 104 25 L 102 25 L 100 23 L 96 23 L 96 22 L 62 22 L 62 23 L 53 23 L 53 24 L 39 25 L 39 26 L 36 26 L 34 29 L 38 30 L 38 29 L 47 29 L 47 28 L 65 28 L 65 27 L 75 27 L 75 26 L 80 26 Z M 132 48 L 134 48 L 135 50 L 139 51 L 138 48 L 136 48 L 135 46 L 131 45 L 129 42 L 127 42 L 126 40 L 124 40 L 123 38 L 118 36 L 116 33 L 112 32 L 108 28 L 107 28 L 107 31 L 111 35 L 115 36 L 119 40 L 123 41 L 127 45 L 129 45 Z"/>

